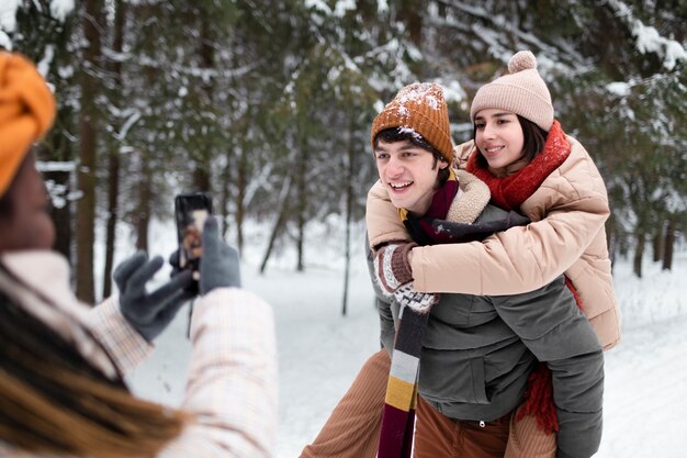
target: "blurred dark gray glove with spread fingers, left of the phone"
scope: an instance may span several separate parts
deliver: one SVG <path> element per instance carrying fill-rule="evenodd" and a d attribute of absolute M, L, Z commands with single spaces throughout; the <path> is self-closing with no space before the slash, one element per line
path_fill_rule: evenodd
<path fill-rule="evenodd" d="M 120 264 L 112 275 L 120 289 L 122 314 L 148 342 L 160 335 L 179 309 L 193 297 L 184 290 L 193 282 L 191 271 L 176 275 L 153 292 L 146 291 L 146 283 L 162 264 L 160 256 L 148 260 L 145 252 L 138 252 Z"/>

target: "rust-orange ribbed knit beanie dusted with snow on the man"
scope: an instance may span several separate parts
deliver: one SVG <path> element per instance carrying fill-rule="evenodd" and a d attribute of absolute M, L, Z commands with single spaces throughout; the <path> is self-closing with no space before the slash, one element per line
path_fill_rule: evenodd
<path fill-rule="evenodd" d="M 394 127 L 419 134 L 449 164 L 453 161 L 449 112 L 439 85 L 414 82 L 401 89 L 372 122 L 372 147 L 374 148 L 374 138 L 380 132 Z"/>

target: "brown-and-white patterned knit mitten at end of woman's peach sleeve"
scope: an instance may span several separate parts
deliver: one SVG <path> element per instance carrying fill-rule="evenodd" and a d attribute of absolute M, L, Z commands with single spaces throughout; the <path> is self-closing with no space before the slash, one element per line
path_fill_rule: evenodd
<path fill-rule="evenodd" d="M 408 253 L 416 246 L 416 243 L 393 243 L 376 252 L 374 276 L 386 298 L 391 298 L 402 284 L 413 282 Z"/>

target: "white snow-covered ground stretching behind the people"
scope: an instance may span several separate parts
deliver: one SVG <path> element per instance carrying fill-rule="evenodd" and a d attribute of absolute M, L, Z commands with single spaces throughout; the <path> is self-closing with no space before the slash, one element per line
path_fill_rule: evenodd
<path fill-rule="evenodd" d="M 341 316 L 342 249 L 338 237 L 316 230 L 307 269 L 293 272 L 288 253 L 257 275 L 259 256 L 244 254 L 244 286 L 274 308 L 280 353 L 280 425 L 277 458 L 296 458 L 349 387 L 362 362 L 379 348 L 378 319 L 361 249 L 350 280 L 347 316 Z M 160 252 L 169 238 L 158 239 Z M 263 238 L 262 238 L 263 239 Z M 154 250 L 155 247 L 154 247 Z M 627 262 L 616 266 L 615 281 L 623 313 L 623 340 L 606 354 L 605 429 L 597 458 L 677 458 L 687 456 L 687 253 L 673 272 L 645 265 L 643 280 Z M 680 287 L 680 284 L 683 284 Z M 190 354 L 181 313 L 161 336 L 156 354 L 131 378 L 149 399 L 178 404 Z"/>

